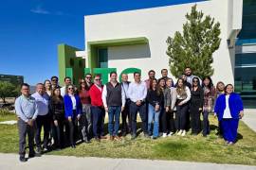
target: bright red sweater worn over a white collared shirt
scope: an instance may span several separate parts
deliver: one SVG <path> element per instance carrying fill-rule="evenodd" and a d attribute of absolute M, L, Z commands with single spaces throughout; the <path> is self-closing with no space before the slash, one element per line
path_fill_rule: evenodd
<path fill-rule="evenodd" d="M 103 106 L 103 102 L 101 99 L 102 91 L 103 91 L 103 87 L 101 86 L 101 90 L 100 90 L 95 84 L 90 88 L 89 93 L 91 97 L 92 106 L 98 106 L 98 107 Z"/>

